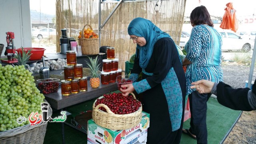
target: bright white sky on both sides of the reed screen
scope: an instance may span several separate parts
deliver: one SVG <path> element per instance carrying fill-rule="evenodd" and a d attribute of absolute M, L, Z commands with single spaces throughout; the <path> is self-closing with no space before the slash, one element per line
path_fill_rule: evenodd
<path fill-rule="evenodd" d="M 56 0 L 30 0 L 30 9 L 45 14 L 55 14 Z M 256 0 L 186 0 L 185 16 L 189 16 L 194 8 L 200 5 L 206 6 L 210 15 L 223 16 L 224 8 L 228 2 L 233 3 L 237 16 L 252 16 L 256 14 Z"/>

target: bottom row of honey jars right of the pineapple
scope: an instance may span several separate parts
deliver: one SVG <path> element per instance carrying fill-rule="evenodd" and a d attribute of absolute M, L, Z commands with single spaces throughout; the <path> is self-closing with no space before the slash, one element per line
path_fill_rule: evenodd
<path fill-rule="evenodd" d="M 118 69 L 116 71 L 110 72 L 101 72 L 100 80 L 101 84 L 109 84 L 112 82 L 116 82 L 116 77 L 122 75 L 122 69 Z"/>

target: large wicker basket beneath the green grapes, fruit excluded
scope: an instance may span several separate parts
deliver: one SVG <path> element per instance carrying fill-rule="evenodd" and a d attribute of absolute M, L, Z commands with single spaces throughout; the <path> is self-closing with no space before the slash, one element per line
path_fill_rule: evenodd
<path fill-rule="evenodd" d="M 47 116 L 52 116 L 52 108 L 48 105 Z M 31 126 L 26 124 L 12 130 L 0 132 L 0 144 L 43 144 L 47 122 Z"/>

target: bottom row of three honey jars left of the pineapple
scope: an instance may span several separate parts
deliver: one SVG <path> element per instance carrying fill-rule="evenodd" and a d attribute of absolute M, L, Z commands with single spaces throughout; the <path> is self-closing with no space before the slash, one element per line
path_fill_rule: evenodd
<path fill-rule="evenodd" d="M 71 81 L 61 81 L 61 94 L 62 96 L 69 96 L 70 94 L 77 94 L 78 92 L 87 91 L 87 77 L 74 79 Z"/>

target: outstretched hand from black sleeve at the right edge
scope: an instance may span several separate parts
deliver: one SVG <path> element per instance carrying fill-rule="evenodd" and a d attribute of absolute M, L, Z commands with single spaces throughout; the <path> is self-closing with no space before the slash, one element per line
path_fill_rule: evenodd
<path fill-rule="evenodd" d="M 194 86 L 190 86 L 190 88 L 196 88 L 200 94 L 210 93 L 212 91 L 212 87 L 214 86 L 214 82 L 209 80 L 198 80 L 196 82 L 192 82 L 191 84 Z"/>

